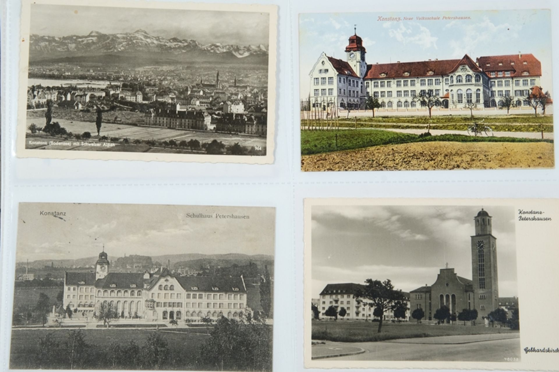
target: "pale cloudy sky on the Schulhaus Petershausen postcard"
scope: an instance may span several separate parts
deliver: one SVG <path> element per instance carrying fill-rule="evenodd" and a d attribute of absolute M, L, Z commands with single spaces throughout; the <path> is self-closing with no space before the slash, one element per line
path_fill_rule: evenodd
<path fill-rule="evenodd" d="M 41 211 L 65 212 L 61 218 Z M 189 218 L 187 213 L 246 214 L 248 220 Z M 274 254 L 275 209 L 145 204 L 20 204 L 18 262 L 131 254 Z"/>

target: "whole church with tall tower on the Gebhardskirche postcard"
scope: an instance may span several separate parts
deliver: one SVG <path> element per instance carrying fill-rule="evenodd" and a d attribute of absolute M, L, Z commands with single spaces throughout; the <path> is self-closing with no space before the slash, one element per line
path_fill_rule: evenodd
<path fill-rule="evenodd" d="M 471 236 L 472 279 L 458 276 L 452 268 L 440 269 L 437 280 L 410 291 L 410 311 L 423 309 L 423 320 L 433 320 L 438 308 L 447 306 L 457 316 L 462 309 L 476 309 L 478 319 L 499 307 L 497 238 L 492 234 L 492 217 L 483 208 L 473 218 Z M 414 320 L 410 318 L 410 321 Z"/>

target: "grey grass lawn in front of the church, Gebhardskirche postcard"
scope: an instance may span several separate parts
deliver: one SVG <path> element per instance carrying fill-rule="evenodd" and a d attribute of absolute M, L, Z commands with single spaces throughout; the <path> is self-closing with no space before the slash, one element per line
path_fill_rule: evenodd
<path fill-rule="evenodd" d="M 468 324 L 468 323 L 466 323 Z M 508 328 L 486 328 L 481 325 L 464 326 L 462 322 L 453 325 L 428 325 L 410 323 L 382 323 L 381 333 L 377 333 L 378 322 L 364 321 L 312 321 L 312 340 L 338 342 L 366 342 L 394 340 L 396 338 L 482 335 L 486 333 L 517 333 Z"/>

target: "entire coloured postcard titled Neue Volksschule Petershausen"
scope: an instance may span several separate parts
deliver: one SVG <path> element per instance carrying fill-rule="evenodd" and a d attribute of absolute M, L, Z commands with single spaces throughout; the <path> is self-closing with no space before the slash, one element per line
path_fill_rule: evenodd
<path fill-rule="evenodd" d="M 302 13 L 301 169 L 553 168 L 547 9 Z"/>

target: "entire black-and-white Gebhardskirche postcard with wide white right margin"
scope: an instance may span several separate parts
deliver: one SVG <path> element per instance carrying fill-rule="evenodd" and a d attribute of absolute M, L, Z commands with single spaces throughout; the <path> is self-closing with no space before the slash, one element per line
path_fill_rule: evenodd
<path fill-rule="evenodd" d="M 557 370 L 556 199 L 306 199 L 306 368 Z"/>

